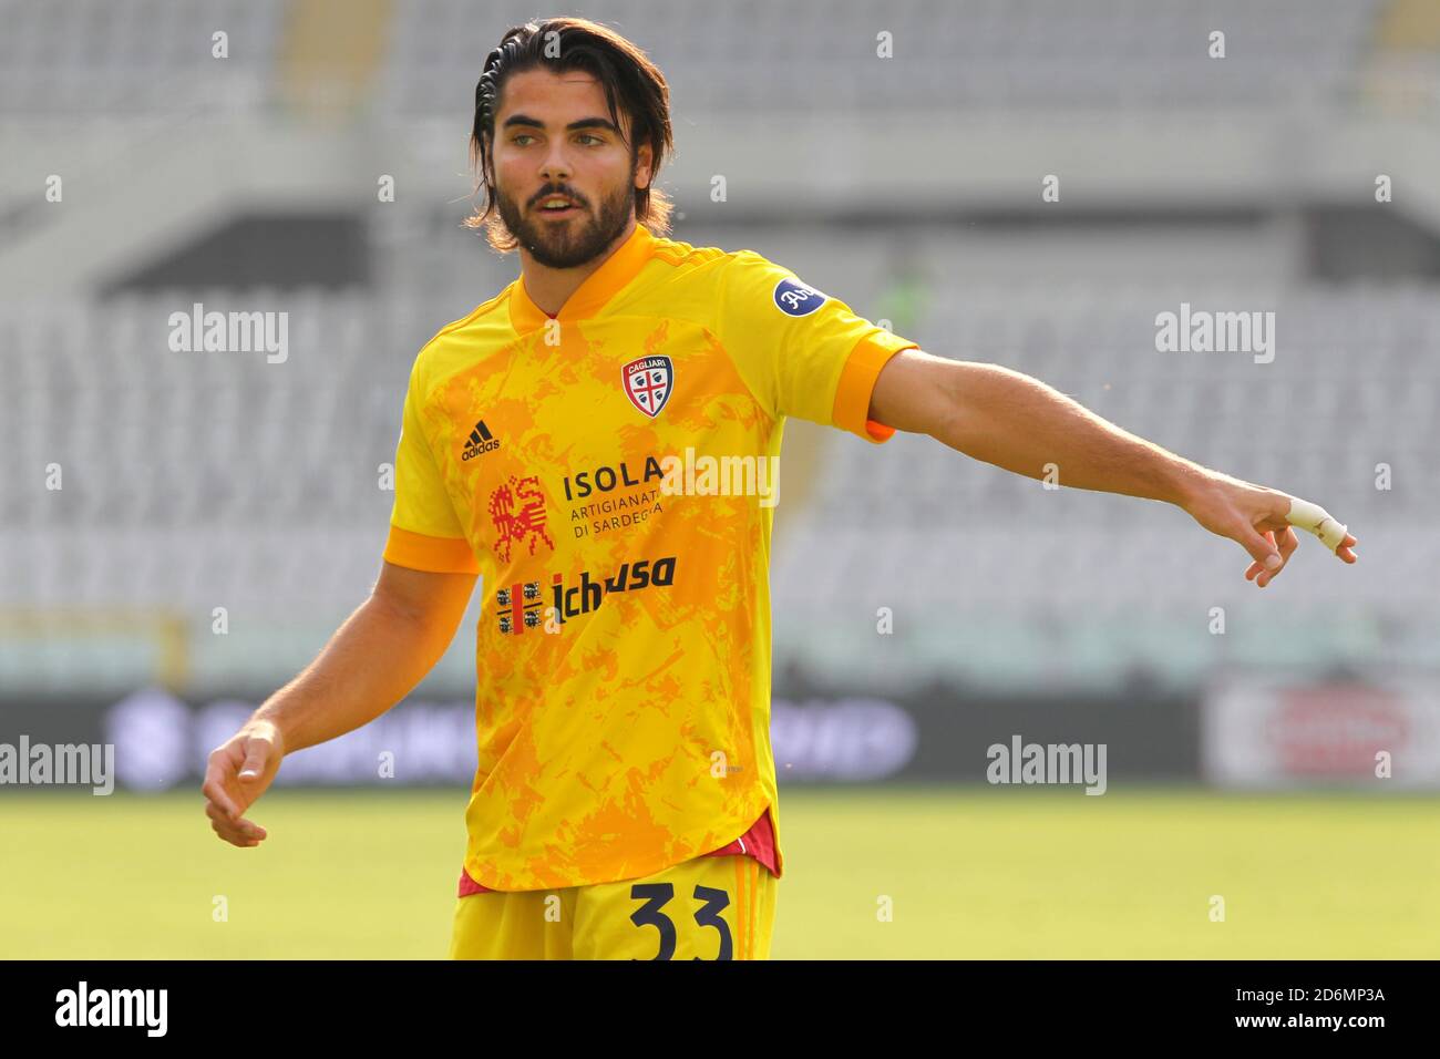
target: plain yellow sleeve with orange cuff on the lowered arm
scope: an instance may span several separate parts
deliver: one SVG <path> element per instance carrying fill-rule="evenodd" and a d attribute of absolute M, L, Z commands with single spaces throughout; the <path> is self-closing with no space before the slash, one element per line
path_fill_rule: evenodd
<path fill-rule="evenodd" d="M 445 491 L 435 450 L 420 419 L 419 363 L 410 372 L 395 451 L 395 506 L 384 560 L 433 573 L 475 573 L 480 565 Z"/>

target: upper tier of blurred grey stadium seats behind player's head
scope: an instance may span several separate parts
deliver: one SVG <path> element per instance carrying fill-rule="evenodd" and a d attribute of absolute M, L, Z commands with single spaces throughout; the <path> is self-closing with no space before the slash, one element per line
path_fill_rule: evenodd
<path fill-rule="evenodd" d="M 1351 91 L 1381 0 L 804 0 L 572 4 L 585 17 L 654 42 L 680 110 L 765 111 L 927 107 L 1053 108 L 1145 104 L 1246 105 L 1326 99 Z M 485 6 L 495 24 L 533 16 L 516 0 Z M 386 68 L 395 114 L 456 114 L 471 101 L 475 7 L 403 6 Z M 1197 40 L 1237 42 L 1224 76 Z M 858 71 L 890 32 L 904 62 Z"/>

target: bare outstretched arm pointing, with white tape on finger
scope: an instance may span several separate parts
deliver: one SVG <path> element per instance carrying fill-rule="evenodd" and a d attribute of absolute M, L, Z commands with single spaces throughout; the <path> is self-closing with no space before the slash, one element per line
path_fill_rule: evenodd
<path fill-rule="evenodd" d="M 1246 579 L 1260 588 L 1299 546 L 1293 526 L 1356 559 L 1355 537 L 1323 509 L 1184 460 L 1008 367 L 901 350 L 876 379 L 870 418 L 1030 478 L 1054 464 L 1061 486 L 1175 504 L 1240 543 L 1253 560 Z"/>

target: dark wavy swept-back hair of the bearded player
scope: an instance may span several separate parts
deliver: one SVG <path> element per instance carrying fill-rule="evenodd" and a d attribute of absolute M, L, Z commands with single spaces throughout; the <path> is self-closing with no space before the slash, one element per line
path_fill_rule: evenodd
<path fill-rule="evenodd" d="M 611 121 L 621 127 L 619 111 L 629 118 L 631 160 L 649 144 L 651 180 L 635 189 L 635 219 L 654 235 L 670 233 L 672 203 L 655 177 L 675 144 L 670 127 L 670 85 L 665 75 L 636 45 L 608 26 L 588 19 L 544 19 L 505 30 L 500 46 L 485 56 L 475 85 L 475 122 L 469 134 L 469 161 L 475 169 L 475 193 L 485 192 L 484 209 L 465 219 L 467 228 L 484 228 L 490 245 L 501 254 L 520 245 L 495 212 L 495 114 L 511 73 L 530 69 L 556 73 L 585 71 L 605 89 Z"/>

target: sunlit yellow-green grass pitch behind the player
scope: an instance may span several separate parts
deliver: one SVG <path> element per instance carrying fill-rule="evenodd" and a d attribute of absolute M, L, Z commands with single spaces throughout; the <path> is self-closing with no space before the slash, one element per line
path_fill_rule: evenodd
<path fill-rule="evenodd" d="M 464 803 L 276 790 L 239 850 L 197 791 L 6 791 L 0 957 L 444 957 Z M 776 958 L 1440 957 L 1433 795 L 785 790 L 780 814 Z"/>

